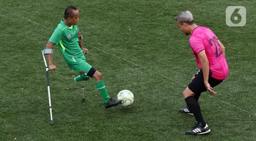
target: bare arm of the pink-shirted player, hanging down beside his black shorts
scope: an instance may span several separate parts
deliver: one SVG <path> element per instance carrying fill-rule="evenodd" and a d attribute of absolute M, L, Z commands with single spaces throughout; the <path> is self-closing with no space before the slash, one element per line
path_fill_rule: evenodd
<path fill-rule="evenodd" d="M 198 54 L 199 60 L 201 62 L 201 69 L 203 71 L 203 83 L 206 87 L 206 89 L 208 90 L 208 92 L 210 92 L 210 94 L 214 95 L 216 94 L 216 92 L 213 91 L 213 88 L 210 86 L 208 79 L 209 79 L 209 62 L 208 62 L 208 58 L 205 54 L 205 50 L 199 52 Z"/>

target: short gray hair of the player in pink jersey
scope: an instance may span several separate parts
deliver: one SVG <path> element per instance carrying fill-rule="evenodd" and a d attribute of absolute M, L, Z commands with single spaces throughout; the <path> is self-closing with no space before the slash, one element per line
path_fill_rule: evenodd
<path fill-rule="evenodd" d="M 180 12 L 177 16 L 175 16 L 175 20 L 179 23 L 187 23 L 194 24 L 193 14 L 190 11 Z"/>

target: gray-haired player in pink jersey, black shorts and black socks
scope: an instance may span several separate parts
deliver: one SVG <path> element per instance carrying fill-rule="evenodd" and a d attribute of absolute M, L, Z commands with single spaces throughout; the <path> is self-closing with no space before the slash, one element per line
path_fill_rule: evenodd
<path fill-rule="evenodd" d="M 205 91 L 215 95 L 213 87 L 223 82 L 229 74 L 225 47 L 209 28 L 195 24 L 191 12 L 181 12 L 175 21 L 185 35 L 191 35 L 190 47 L 200 68 L 183 92 L 187 108 L 181 108 L 180 112 L 194 115 L 197 120 L 197 125 L 186 134 L 208 134 L 211 130 L 203 119 L 198 100 Z"/>

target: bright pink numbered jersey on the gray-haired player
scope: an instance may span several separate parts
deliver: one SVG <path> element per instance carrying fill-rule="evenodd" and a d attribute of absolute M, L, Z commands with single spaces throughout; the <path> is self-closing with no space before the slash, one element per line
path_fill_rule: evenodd
<path fill-rule="evenodd" d="M 197 54 L 205 50 L 212 77 L 220 80 L 227 77 L 229 74 L 227 60 L 223 55 L 221 45 L 218 44 L 218 37 L 209 28 L 197 26 L 191 34 L 189 43 L 199 68 L 201 68 L 201 63 Z"/>

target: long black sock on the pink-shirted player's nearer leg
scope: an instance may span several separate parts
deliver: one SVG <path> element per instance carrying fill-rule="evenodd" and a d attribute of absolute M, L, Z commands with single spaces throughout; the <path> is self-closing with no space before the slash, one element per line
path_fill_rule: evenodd
<path fill-rule="evenodd" d="M 188 108 L 193 113 L 197 122 L 198 123 L 200 122 L 201 125 L 203 125 L 203 127 L 205 127 L 205 121 L 204 121 L 203 116 L 201 114 L 201 108 L 200 108 L 196 98 L 194 98 L 194 96 L 188 96 L 188 98 L 186 98 L 185 101 L 186 101 L 186 105 L 188 106 Z"/>

